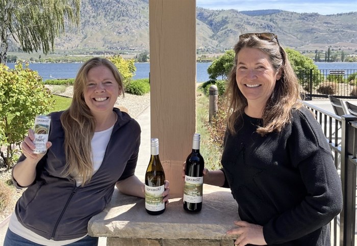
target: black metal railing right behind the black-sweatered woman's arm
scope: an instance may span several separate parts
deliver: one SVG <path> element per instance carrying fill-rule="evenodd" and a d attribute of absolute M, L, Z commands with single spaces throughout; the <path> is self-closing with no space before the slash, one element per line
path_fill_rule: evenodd
<path fill-rule="evenodd" d="M 340 173 L 343 193 L 342 212 L 331 222 L 331 243 L 334 246 L 354 246 L 356 229 L 357 179 L 357 117 L 337 116 L 308 102 L 333 152 L 335 166 Z"/>

